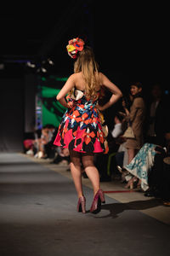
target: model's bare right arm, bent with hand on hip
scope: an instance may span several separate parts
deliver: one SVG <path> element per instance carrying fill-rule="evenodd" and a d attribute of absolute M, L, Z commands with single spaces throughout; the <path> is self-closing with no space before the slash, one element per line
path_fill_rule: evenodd
<path fill-rule="evenodd" d="M 103 73 L 99 73 L 99 80 L 100 80 L 100 83 L 102 85 L 104 85 L 112 93 L 112 96 L 111 96 L 109 102 L 105 103 L 104 106 L 98 105 L 99 110 L 103 111 L 106 108 L 110 108 L 111 105 L 115 104 L 122 97 L 122 91 L 119 90 L 119 88 L 116 86 L 116 84 L 113 84 L 110 81 L 110 79 L 108 79 Z"/>

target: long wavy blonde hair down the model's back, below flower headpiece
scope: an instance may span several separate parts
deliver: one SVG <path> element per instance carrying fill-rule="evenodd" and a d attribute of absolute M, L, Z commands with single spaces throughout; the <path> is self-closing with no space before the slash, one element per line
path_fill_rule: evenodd
<path fill-rule="evenodd" d="M 88 46 L 79 52 L 74 64 L 74 73 L 79 72 L 82 72 L 82 78 L 85 81 L 86 96 L 96 97 L 96 91 L 99 90 L 99 66 L 94 60 L 93 49 Z"/>

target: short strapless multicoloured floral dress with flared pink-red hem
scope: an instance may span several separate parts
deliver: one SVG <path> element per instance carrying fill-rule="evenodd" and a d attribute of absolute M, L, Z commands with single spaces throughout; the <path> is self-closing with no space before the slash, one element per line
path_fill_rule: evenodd
<path fill-rule="evenodd" d="M 61 119 L 54 145 L 81 153 L 108 153 L 103 120 L 95 107 L 98 97 L 99 92 L 95 100 L 88 99 L 77 89 L 66 97 L 72 108 L 68 108 Z"/>

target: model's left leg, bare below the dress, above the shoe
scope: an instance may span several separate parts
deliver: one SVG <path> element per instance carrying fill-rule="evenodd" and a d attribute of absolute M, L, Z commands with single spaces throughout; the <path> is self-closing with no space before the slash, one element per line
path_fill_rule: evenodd
<path fill-rule="evenodd" d="M 82 170 L 81 170 L 81 154 L 71 150 L 71 175 L 77 189 L 78 198 L 83 195 L 82 193 Z"/>

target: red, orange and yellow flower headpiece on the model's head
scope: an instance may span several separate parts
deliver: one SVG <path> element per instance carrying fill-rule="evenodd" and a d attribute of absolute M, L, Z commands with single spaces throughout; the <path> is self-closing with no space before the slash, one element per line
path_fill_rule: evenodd
<path fill-rule="evenodd" d="M 82 51 L 84 47 L 84 41 L 81 38 L 73 38 L 69 41 L 69 44 L 66 46 L 68 55 L 71 56 L 72 59 L 77 58 L 77 53 Z"/>

